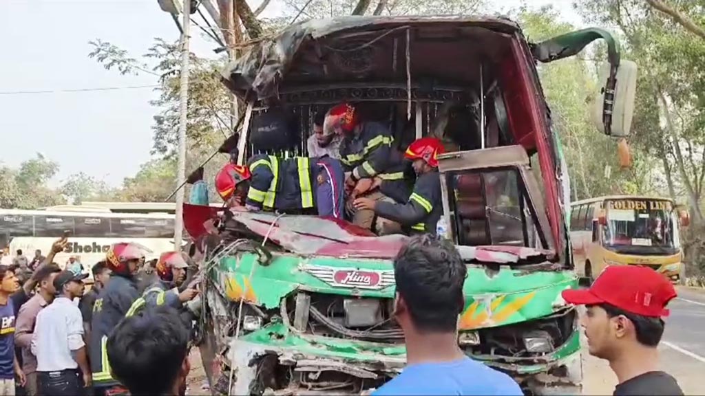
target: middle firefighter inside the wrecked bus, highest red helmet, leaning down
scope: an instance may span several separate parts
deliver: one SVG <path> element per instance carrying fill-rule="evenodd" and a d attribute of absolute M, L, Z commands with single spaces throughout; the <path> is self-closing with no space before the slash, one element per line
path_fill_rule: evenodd
<path fill-rule="evenodd" d="M 324 134 L 341 135 L 341 162 L 349 175 L 346 190 L 351 190 L 349 202 L 365 195 L 376 202 L 406 202 L 409 190 L 404 180 L 401 153 L 392 147 L 394 138 L 381 123 L 360 121 L 355 106 L 348 103 L 333 106 L 324 120 Z M 372 182 L 380 179 L 381 183 Z M 379 191 L 370 186 L 379 185 Z M 353 214 L 353 223 L 372 229 L 374 211 L 360 208 Z M 382 229 L 380 229 L 382 228 Z M 391 233 L 398 228 L 388 222 L 377 224 L 377 233 Z"/>

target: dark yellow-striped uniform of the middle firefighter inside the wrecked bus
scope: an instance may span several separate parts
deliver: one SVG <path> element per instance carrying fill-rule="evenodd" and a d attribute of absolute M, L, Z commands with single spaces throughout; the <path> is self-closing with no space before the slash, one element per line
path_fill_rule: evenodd
<path fill-rule="evenodd" d="M 341 162 L 355 179 L 380 178 L 379 190 L 396 202 L 409 199 L 401 154 L 392 148 L 394 138 L 381 123 L 363 122 L 358 133 L 345 135 L 341 142 Z"/>

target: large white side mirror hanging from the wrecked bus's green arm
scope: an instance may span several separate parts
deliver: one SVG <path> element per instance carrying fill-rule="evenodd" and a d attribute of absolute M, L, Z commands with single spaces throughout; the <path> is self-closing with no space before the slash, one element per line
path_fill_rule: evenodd
<path fill-rule="evenodd" d="M 613 70 L 604 63 L 598 77 L 598 92 L 591 103 L 591 121 L 612 137 L 625 137 L 632 128 L 637 93 L 637 63 L 622 60 Z"/>

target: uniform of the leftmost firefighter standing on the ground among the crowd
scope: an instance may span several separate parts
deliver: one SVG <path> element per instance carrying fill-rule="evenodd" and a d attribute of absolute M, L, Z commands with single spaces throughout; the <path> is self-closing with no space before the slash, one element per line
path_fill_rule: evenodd
<path fill-rule="evenodd" d="M 135 280 L 131 276 L 114 273 L 96 299 L 88 349 L 94 388 L 119 385 L 110 373 L 106 342 L 118 322 L 130 314 L 130 307 L 138 297 L 140 295 Z"/>

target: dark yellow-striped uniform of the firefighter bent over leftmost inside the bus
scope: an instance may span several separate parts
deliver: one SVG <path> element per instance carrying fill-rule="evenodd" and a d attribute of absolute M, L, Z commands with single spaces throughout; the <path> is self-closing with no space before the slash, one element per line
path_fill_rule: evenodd
<path fill-rule="evenodd" d="M 344 176 L 338 160 L 258 154 L 247 161 L 247 168 L 251 176 L 245 204 L 278 211 L 316 207 L 321 216 L 342 216 Z"/>

